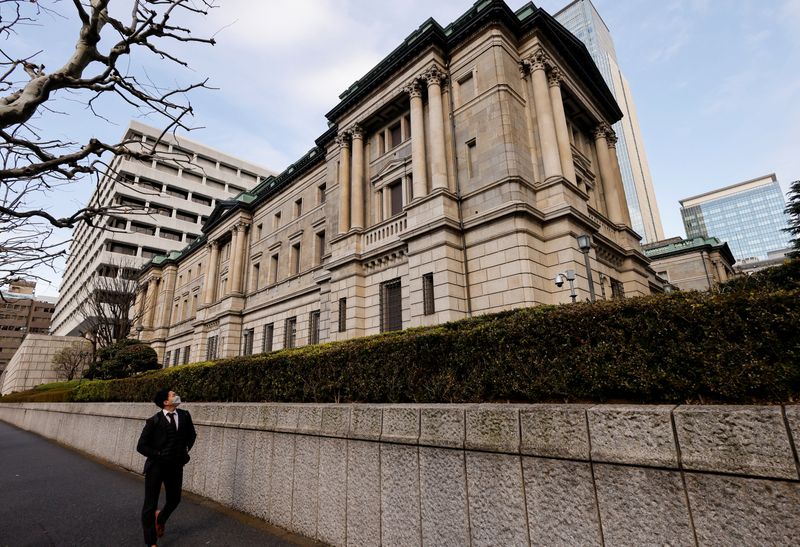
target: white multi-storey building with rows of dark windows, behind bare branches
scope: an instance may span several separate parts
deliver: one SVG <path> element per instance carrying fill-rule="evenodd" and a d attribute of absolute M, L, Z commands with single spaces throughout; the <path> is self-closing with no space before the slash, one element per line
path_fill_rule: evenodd
<path fill-rule="evenodd" d="M 100 225 L 81 223 L 70 246 L 52 334 L 81 335 L 87 329 L 80 304 L 96 276 L 135 279 L 154 256 L 197 239 L 214 207 L 256 186 L 271 173 L 200 143 L 161 136 L 162 131 L 132 121 L 126 141 L 157 145 L 159 159 L 146 164 L 117 157 L 89 204 L 116 206 Z"/>

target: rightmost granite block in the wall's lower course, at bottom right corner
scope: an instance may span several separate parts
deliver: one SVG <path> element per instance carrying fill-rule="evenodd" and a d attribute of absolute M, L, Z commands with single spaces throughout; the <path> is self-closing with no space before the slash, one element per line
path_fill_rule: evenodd
<path fill-rule="evenodd" d="M 800 484 L 687 473 L 700 545 L 800 545 Z"/>

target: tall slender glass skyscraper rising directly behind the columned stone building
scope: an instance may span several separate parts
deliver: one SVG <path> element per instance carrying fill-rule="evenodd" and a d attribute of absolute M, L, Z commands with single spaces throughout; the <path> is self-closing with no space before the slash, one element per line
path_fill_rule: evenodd
<path fill-rule="evenodd" d="M 662 240 L 664 229 L 644 150 L 644 139 L 639 129 L 636 105 L 628 80 L 617 63 L 611 32 L 591 0 L 575 0 L 556 13 L 555 18 L 586 44 L 622 110 L 622 119 L 613 128 L 619 139 L 617 155 L 633 229 L 642 236 L 643 242 Z"/>

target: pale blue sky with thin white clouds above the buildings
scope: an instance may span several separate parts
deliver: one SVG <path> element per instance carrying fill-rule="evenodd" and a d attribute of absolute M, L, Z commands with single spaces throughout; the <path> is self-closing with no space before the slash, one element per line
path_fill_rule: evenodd
<path fill-rule="evenodd" d="M 518 9 L 526 2 L 507 0 Z M 69 4 L 62 4 L 68 12 Z M 565 0 L 541 0 L 555 13 Z M 447 25 L 469 0 L 222 0 L 193 22 L 217 45 L 180 48 L 191 70 L 142 63 L 154 78 L 210 78 L 193 95 L 189 136 L 280 172 L 314 146 L 338 95 L 428 17 Z M 666 237 L 684 236 L 678 200 L 769 173 L 784 188 L 800 178 L 800 0 L 596 0 L 638 111 Z M 74 25 L 51 17 L 16 38 L 54 66 L 73 47 Z M 41 58 L 40 57 L 40 58 Z M 42 121 L 72 137 L 113 140 L 133 116 L 121 104 L 103 114 L 67 112 Z M 75 116 L 81 123 L 75 123 Z M 146 123 L 151 120 L 142 119 Z M 86 182 L 47 207 L 66 213 L 88 201 Z M 68 237 L 66 234 L 65 237 Z M 63 267 L 63 264 L 59 268 Z M 42 272 L 55 295 L 61 272 Z"/>

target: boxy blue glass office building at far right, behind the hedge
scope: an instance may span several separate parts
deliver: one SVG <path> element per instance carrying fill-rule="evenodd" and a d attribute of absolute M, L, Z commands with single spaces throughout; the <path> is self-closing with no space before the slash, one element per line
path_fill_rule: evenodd
<path fill-rule="evenodd" d="M 680 200 L 686 237 L 726 241 L 737 266 L 789 251 L 786 201 L 775 174 Z"/>

